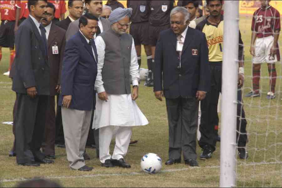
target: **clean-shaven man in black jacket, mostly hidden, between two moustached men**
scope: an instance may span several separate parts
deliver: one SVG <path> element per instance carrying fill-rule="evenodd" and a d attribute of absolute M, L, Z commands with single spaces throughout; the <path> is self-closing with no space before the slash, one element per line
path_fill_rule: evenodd
<path fill-rule="evenodd" d="M 83 13 L 83 2 L 81 0 L 79 1 L 68 1 L 68 10 L 69 10 L 69 16 L 66 17 L 64 20 L 61 20 L 60 22 L 57 22 L 56 24 L 67 30 L 70 23 L 74 22 L 75 20 L 79 19 Z"/>

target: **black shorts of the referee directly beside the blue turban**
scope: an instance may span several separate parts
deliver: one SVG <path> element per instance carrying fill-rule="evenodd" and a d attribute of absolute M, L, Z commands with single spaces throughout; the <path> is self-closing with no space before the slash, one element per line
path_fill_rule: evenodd
<path fill-rule="evenodd" d="M 134 39 L 135 46 L 149 45 L 149 22 L 140 22 L 130 25 L 130 34 Z"/>

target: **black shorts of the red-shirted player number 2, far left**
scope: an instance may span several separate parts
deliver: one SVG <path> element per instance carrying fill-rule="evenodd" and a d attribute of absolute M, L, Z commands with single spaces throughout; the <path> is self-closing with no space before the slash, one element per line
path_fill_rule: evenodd
<path fill-rule="evenodd" d="M 0 46 L 14 48 L 15 46 L 15 21 L 1 21 L 0 26 Z"/>

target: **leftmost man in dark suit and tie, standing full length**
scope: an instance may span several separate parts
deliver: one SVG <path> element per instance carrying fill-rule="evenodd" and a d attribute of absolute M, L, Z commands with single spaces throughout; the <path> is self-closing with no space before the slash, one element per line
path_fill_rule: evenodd
<path fill-rule="evenodd" d="M 17 163 L 39 166 L 53 163 L 40 152 L 50 95 L 46 30 L 40 19 L 47 1 L 28 1 L 30 15 L 16 34 L 17 54 L 13 91 L 16 92 L 15 118 Z"/>

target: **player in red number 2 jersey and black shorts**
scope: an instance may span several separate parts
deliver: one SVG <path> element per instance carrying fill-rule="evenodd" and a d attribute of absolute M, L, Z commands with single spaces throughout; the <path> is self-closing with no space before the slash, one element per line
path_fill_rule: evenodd
<path fill-rule="evenodd" d="M 11 65 L 15 58 L 15 20 L 16 1 L 0 1 L 1 26 L 0 26 L 0 48 L 10 48 L 10 66 L 4 75 L 9 76 Z M 1 51 L 1 50 L 0 50 Z M 2 55 L 1 55 L 2 56 Z"/>

